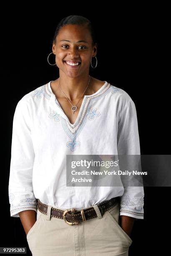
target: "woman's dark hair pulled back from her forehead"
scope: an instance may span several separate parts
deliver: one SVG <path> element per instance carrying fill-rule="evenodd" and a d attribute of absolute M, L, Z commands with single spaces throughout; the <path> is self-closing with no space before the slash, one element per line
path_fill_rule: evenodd
<path fill-rule="evenodd" d="M 56 36 L 58 36 L 60 28 L 62 28 L 63 26 L 66 26 L 66 25 L 70 25 L 70 24 L 86 26 L 91 33 L 92 47 L 95 44 L 97 44 L 96 35 L 93 30 L 91 21 L 88 20 L 87 18 L 85 18 L 83 16 L 79 16 L 79 15 L 70 15 L 70 16 L 65 17 L 62 20 L 60 20 L 60 22 L 58 23 L 58 26 L 56 27 L 55 35 L 53 36 L 53 40 L 52 40 L 52 44 L 53 44 L 53 42 L 56 44 Z"/>

